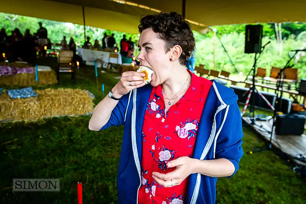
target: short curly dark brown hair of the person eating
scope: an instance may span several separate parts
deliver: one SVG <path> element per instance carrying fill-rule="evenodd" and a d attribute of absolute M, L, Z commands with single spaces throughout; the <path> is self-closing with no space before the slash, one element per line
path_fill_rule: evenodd
<path fill-rule="evenodd" d="M 181 65 L 186 65 L 196 44 L 187 20 L 176 12 L 160 12 L 140 19 L 139 32 L 142 33 L 147 28 L 152 28 L 158 37 L 166 42 L 166 52 L 175 45 L 181 46 L 182 54 L 179 61 Z"/>

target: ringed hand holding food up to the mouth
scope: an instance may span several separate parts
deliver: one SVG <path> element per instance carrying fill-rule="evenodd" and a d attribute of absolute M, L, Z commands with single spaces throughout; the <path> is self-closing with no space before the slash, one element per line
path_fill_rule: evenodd
<path fill-rule="evenodd" d="M 112 89 L 114 96 L 121 98 L 132 89 L 144 86 L 144 76 L 146 75 L 141 72 L 123 72 L 119 82 Z M 132 86 L 130 86 L 130 82 Z"/>

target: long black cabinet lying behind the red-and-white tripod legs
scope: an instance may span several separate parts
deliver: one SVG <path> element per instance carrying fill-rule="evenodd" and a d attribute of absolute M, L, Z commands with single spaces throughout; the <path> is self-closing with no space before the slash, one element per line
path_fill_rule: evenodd
<path fill-rule="evenodd" d="M 234 86 L 231 85 L 230 88 L 232 88 L 234 90 L 234 93 L 238 96 L 238 99 L 241 99 L 240 103 L 245 103 L 247 98 L 248 98 L 248 93 L 246 95 L 244 95 L 243 98 L 242 95 L 246 92 L 249 91 L 249 88 L 245 88 L 245 87 L 238 87 L 238 86 Z M 268 93 L 265 91 L 259 91 L 259 93 L 261 93 L 268 101 L 269 103 L 271 103 L 271 105 L 274 107 L 275 106 L 275 101 L 276 101 L 276 94 L 275 93 Z M 257 108 L 261 108 L 261 109 L 267 109 L 267 110 L 272 110 L 270 108 L 270 106 L 268 105 L 268 103 L 263 100 L 263 98 L 261 98 L 261 96 L 256 92 L 255 94 L 252 93 L 252 96 L 250 98 L 249 104 L 253 104 L 253 98 L 255 97 L 255 106 Z"/>

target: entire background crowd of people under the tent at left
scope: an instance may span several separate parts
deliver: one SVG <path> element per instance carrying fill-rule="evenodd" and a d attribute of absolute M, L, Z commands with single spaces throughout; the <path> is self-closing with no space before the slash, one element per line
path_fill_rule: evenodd
<path fill-rule="evenodd" d="M 37 52 L 39 56 L 46 56 L 47 49 L 51 49 L 51 46 L 52 44 L 48 38 L 47 29 L 43 27 L 41 22 L 39 23 L 39 29 L 33 35 L 29 29 L 24 34 L 18 28 L 11 31 L 11 35 L 7 35 L 4 28 L 0 32 L 0 53 L 5 53 L 6 59 L 9 61 L 27 61 L 28 63 L 32 63 L 37 57 Z M 68 43 L 66 36 L 64 36 L 60 42 L 60 46 L 61 50 L 73 51 L 73 61 L 82 61 L 76 54 L 76 43 L 72 37 Z M 83 48 L 119 52 L 123 63 L 130 63 L 134 55 L 134 42 L 132 38 L 128 40 L 126 35 L 123 35 L 120 46 L 118 46 L 114 38 L 114 33 L 111 35 L 104 33 L 102 44 L 100 44 L 98 39 L 95 39 L 92 44 L 90 37 L 87 37 Z M 1 59 L 4 60 L 3 57 Z"/>

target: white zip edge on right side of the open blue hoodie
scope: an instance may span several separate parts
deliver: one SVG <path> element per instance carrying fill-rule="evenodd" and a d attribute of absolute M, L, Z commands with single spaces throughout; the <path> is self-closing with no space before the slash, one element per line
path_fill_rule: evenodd
<path fill-rule="evenodd" d="M 216 135 L 216 132 L 217 132 L 217 127 L 216 127 L 216 115 L 223 109 L 226 108 L 227 105 L 225 104 L 222 104 L 221 106 L 218 107 L 217 109 L 217 112 L 215 113 L 215 116 L 214 116 L 214 123 L 213 123 L 213 134 L 209 137 L 207 143 L 209 144 L 209 147 L 206 145 L 204 147 L 204 150 L 203 150 L 203 153 L 200 157 L 200 160 L 203 160 L 206 155 L 208 154 L 208 151 L 210 150 L 211 148 L 211 145 L 212 143 L 214 142 L 214 138 L 215 138 L 215 135 Z M 199 196 L 199 191 L 200 191 L 200 183 L 201 183 L 201 174 L 198 173 L 197 175 L 197 179 L 196 179 L 196 186 L 195 186 L 195 189 L 193 191 L 193 195 L 192 195 L 192 198 L 191 198 L 191 204 L 196 204 L 196 201 L 198 199 L 198 196 Z"/>

